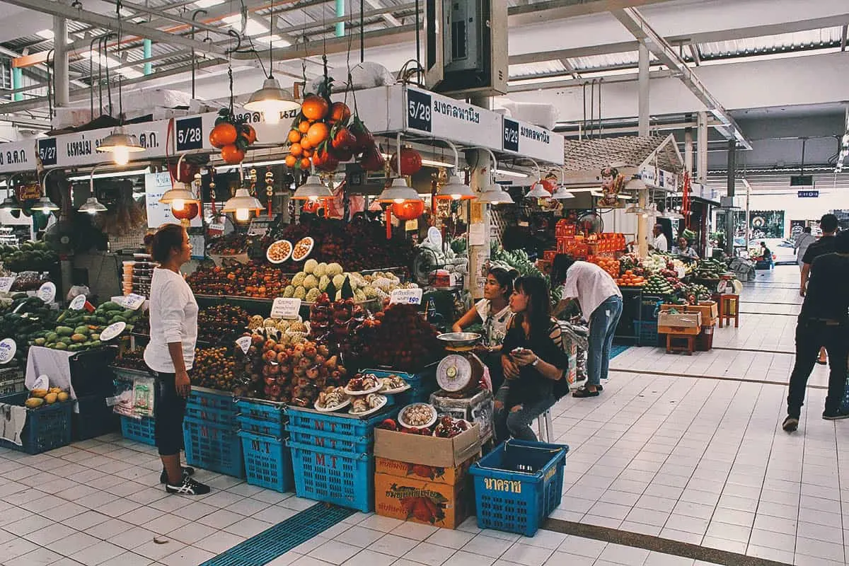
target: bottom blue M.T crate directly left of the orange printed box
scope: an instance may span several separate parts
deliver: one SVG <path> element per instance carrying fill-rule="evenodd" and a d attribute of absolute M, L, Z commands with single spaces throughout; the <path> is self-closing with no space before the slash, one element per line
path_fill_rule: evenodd
<path fill-rule="evenodd" d="M 351 454 L 287 441 L 295 494 L 368 513 L 374 507 L 374 455 Z"/>

